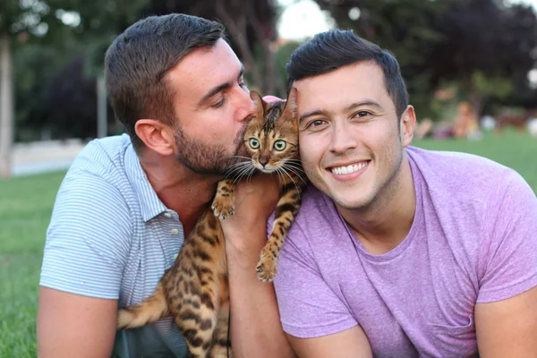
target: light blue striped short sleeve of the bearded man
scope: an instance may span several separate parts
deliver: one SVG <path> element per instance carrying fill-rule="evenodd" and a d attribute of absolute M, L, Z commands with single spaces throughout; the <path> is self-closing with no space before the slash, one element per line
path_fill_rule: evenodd
<path fill-rule="evenodd" d="M 79 169 L 64 178 L 47 229 L 40 286 L 117 299 L 132 237 L 117 188 Z"/>

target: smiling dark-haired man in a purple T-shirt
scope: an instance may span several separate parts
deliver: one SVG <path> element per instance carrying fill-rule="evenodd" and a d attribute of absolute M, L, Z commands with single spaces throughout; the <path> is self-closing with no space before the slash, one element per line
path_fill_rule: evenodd
<path fill-rule="evenodd" d="M 275 281 L 300 357 L 537 353 L 537 199 L 515 171 L 410 146 L 396 59 L 352 31 L 287 66 L 313 187 Z"/>

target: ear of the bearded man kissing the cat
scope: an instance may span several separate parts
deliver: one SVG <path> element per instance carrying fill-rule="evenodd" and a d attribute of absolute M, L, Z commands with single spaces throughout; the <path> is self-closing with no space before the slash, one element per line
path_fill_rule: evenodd
<path fill-rule="evenodd" d="M 175 152 L 174 130 L 156 119 L 139 119 L 134 125 L 136 135 L 147 149 L 161 156 L 170 156 Z"/>

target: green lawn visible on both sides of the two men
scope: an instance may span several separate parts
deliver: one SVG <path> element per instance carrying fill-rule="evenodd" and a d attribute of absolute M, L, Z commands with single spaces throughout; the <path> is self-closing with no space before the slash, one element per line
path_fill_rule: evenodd
<path fill-rule="evenodd" d="M 415 141 L 460 150 L 518 171 L 537 192 L 537 139 L 506 132 L 482 141 Z M 39 268 L 55 193 L 64 173 L 0 180 L 0 357 L 36 357 Z"/>

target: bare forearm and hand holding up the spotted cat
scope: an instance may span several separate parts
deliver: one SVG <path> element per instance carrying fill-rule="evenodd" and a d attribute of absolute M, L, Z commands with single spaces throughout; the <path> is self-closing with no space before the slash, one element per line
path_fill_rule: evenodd
<path fill-rule="evenodd" d="M 277 175 L 256 175 L 235 190 L 234 215 L 222 220 L 226 236 L 231 340 L 234 356 L 293 357 L 279 320 L 271 283 L 255 267 L 267 243 L 267 219 L 279 196 Z"/>

